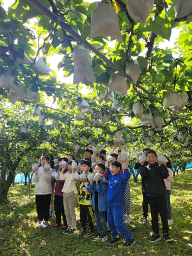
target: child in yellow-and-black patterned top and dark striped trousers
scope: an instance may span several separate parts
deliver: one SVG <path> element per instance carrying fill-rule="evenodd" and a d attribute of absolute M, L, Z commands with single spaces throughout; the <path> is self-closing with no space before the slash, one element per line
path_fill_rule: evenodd
<path fill-rule="evenodd" d="M 92 163 L 88 160 L 81 161 L 81 172 L 85 173 L 86 177 L 90 174 L 90 168 Z M 78 201 L 80 205 L 80 221 L 81 221 L 81 232 L 80 236 L 93 237 L 94 236 L 94 214 L 92 209 L 92 195 L 88 192 L 87 187 L 90 182 L 85 179 L 81 179 L 80 183 L 76 182 L 78 191 Z M 86 220 L 88 218 L 88 224 L 90 230 L 86 233 Z"/>

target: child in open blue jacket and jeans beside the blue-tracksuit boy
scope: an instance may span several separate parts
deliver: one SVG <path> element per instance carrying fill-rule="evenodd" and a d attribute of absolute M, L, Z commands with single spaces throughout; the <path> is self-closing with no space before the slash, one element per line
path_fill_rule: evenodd
<path fill-rule="evenodd" d="M 105 172 L 105 166 L 99 163 L 95 167 L 95 173 L 103 174 Z M 89 193 L 92 194 L 92 207 L 95 212 L 95 219 L 97 224 L 97 234 L 93 237 L 92 241 L 105 242 L 108 240 L 107 237 L 107 221 L 106 211 L 108 208 L 107 204 L 107 193 L 108 193 L 108 180 L 104 176 L 96 181 L 90 181 L 90 185 L 87 187 Z"/>

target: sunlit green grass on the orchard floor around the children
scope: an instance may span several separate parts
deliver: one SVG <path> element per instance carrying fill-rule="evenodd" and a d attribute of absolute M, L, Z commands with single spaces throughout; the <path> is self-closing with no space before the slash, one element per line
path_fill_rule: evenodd
<path fill-rule="evenodd" d="M 188 256 L 192 255 L 192 170 L 186 170 L 172 180 L 172 215 L 174 225 L 170 227 L 172 243 L 148 242 L 150 232 L 150 217 L 147 225 L 141 224 L 141 180 L 138 184 L 131 183 L 132 222 L 127 224 L 134 234 L 136 244 L 131 248 L 123 248 L 121 243 L 108 246 L 108 243 L 95 243 L 91 239 L 79 237 L 77 234 L 66 236 L 58 228 L 52 228 L 55 220 L 51 218 L 48 228 L 35 228 L 36 211 L 35 196 L 31 188 L 31 198 L 28 198 L 28 188 L 17 184 L 10 188 L 9 203 L 0 206 L 0 255 L 2 256 Z M 77 205 L 77 215 L 78 205 Z M 161 223 L 159 221 L 161 227 Z M 77 229 L 80 230 L 80 225 Z M 162 234 L 161 234 L 162 236 Z M 110 237 L 110 233 L 108 233 Z"/>

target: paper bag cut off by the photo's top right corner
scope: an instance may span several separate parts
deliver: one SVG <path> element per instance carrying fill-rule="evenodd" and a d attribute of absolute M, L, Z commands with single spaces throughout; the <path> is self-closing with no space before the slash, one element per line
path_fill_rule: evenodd
<path fill-rule="evenodd" d="M 175 21 L 192 20 L 192 1 L 173 0 L 175 10 Z"/>

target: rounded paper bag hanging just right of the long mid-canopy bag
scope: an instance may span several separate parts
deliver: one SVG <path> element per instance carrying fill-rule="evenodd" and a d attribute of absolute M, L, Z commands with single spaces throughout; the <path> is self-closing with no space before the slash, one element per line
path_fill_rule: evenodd
<path fill-rule="evenodd" d="M 115 73 L 109 78 L 108 92 L 116 91 L 121 96 L 127 95 L 128 85 L 124 76 Z"/>

